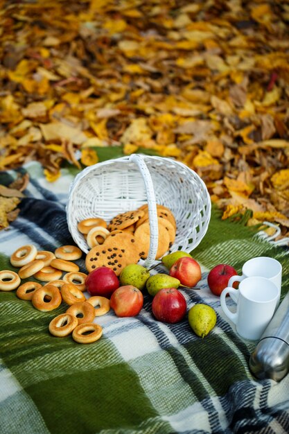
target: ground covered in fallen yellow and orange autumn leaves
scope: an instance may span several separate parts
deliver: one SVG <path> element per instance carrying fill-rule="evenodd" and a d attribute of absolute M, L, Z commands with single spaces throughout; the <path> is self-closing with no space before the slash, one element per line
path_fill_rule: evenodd
<path fill-rule="evenodd" d="M 67 162 L 98 162 L 102 147 L 151 150 L 193 168 L 222 218 L 288 235 L 288 1 L 2 0 L 0 10 L 1 170 L 35 159 L 53 182 Z"/>

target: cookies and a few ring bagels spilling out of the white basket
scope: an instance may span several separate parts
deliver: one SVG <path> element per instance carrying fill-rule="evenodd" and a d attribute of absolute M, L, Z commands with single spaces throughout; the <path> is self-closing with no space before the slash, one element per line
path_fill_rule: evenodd
<path fill-rule="evenodd" d="M 177 226 L 172 211 L 164 205 L 157 205 L 157 218 L 159 244 L 156 259 L 159 259 L 173 245 Z M 78 230 L 85 236 L 91 248 L 85 260 L 88 272 L 106 266 L 112 268 L 118 276 L 125 266 L 148 257 L 148 205 L 118 214 L 108 225 L 100 218 L 82 220 L 78 223 Z"/>

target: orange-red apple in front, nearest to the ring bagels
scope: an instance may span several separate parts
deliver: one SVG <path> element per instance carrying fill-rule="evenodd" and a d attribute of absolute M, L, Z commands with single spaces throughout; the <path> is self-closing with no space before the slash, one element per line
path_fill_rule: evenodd
<path fill-rule="evenodd" d="M 116 316 L 136 316 L 143 307 L 143 294 L 135 286 L 120 286 L 110 297 L 110 307 Z"/>

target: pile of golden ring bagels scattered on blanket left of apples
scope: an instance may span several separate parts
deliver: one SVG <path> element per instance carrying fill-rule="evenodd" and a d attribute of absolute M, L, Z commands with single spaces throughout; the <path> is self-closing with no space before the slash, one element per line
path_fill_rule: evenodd
<path fill-rule="evenodd" d="M 72 333 L 76 342 L 85 344 L 95 342 L 102 336 L 103 329 L 94 323 L 94 318 L 110 311 L 110 300 L 85 297 L 83 292 L 87 275 L 80 272 L 73 262 L 80 257 L 82 251 L 74 245 L 64 245 L 54 253 L 37 251 L 33 244 L 24 245 L 10 257 L 11 265 L 19 268 L 18 273 L 0 271 L 0 290 L 17 289 L 17 297 L 30 300 L 35 309 L 42 312 L 53 311 L 64 302 L 69 306 L 67 311 L 51 320 L 49 331 L 58 337 Z M 26 281 L 21 284 L 21 279 L 29 277 L 42 283 Z"/>

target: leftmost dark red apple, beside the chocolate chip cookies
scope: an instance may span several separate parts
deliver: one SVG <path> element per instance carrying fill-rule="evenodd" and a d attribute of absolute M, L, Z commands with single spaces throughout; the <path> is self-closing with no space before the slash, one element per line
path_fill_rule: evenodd
<path fill-rule="evenodd" d="M 98 267 L 89 272 L 85 279 L 85 286 L 90 295 L 110 298 L 114 290 L 119 288 L 119 279 L 111 268 Z"/>

